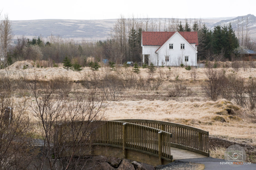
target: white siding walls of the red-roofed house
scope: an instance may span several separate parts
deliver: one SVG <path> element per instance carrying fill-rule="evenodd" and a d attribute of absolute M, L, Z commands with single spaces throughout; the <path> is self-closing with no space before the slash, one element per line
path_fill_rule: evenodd
<path fill-rule="evenodd" d="M 169 49 L 169 44 L 173 44 L 173 49 Z M 185 44 L 185 49 L 180 49 L 180 44 Z M 157 65 L 157 54 L 155 51 L 159 46 L 143 46 L 142 54 L 149 54 L 151 62 Z M 158 51 L 159 66 L 175 66 L 183 63 L 184 65 L 196 65 L 195 44 L 189 44 L 186 40 L 176 32 Z M 169 56 L 169 62 L 165 62 L 165 56 Z M 185 56 L 188 56 L 188 62 L 185 62 Z"/>

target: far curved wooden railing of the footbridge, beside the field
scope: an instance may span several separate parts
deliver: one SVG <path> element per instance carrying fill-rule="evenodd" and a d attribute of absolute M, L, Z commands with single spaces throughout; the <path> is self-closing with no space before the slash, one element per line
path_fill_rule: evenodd
<path fill-rule="evenodd" d="M 170 146 L 209 156 L 208 131 L 158 120 L 120 119 L 116 121 L 134 123 L 169 132 L 172 134 Z"/>

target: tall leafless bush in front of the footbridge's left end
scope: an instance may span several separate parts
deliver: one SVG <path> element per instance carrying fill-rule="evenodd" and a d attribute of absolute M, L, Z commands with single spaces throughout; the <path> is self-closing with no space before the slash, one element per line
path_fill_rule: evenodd
<path fill-rule="evenodd" d="M 39 81 L 38 75 L 34 72 L 32 75 L 24 75 L 24 80 L 28 91 L 34 96 L 34 101 L 30 103 L 30 111 L 37 122 L 34 128 L 38 129 L 39 135 L 42 136 L 40 143 L 42 156 L 33 164 L 34 167 L 41 169 L 47 160 L 47 169 L 56 169 L 59 160 L 62 169 L 72 169 L 71 164 L 76 164 L 79 159 L 75 159 L 74 155 L 78 152 L 85 153 L 86 148 L 90 147 L 88 139 L 96 128 L 94 126 L 96 124 L 92 126 L 90 122 L 103 118 L 104 96 L 94 86 L 89 94 L 77 92 L 74 98 L 64 101 L 61 95 L 56 93 L 58 79 Z M 75 123 L 76 121 L 82 123 Z M 60 125 L 61 129 L 59 129 Z M 83 138 L 80 138 L 80 135 Z M 67 137 L 72 139 L 66 140 Z"/>

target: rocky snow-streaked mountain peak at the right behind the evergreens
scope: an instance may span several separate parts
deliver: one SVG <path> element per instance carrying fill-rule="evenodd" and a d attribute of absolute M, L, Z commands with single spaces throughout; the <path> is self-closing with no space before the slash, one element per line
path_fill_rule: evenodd
<path fill-rule="evenodd" d="M 244 30 L 246 30 L 247 18 L 248 18 L 248 30 L 251 33 L 250 36 L 252 39 L 256 40 L 256 17 L 251 14 L 248 14 L 245 16 L 238 16 L 232 19 L 221 20 L 219 22 L 216 22 L 214 25 L 212 25 L 211 29 L 213 30 L 214 26 L 217 26 L 217 25 L 228 26 L 230 22 L 232 25 L 232 28 L 236 31 L 238 29 L 238 20 L 239 20 L 239 27 L 241 28 L 242 22 L 243 22 Z"/>

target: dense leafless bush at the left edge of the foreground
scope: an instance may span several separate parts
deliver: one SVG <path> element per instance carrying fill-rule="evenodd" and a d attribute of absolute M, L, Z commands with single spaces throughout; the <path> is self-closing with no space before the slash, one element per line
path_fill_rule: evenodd
<path fill-rule="evenodd" d="M 26 169 L 33 157 L 29 152 L 34 130 L 26 113 L 28 101 L 24 98 L 14 103 L 12 98 L 18 81 L 0 77 L 0 169 Z"/>

